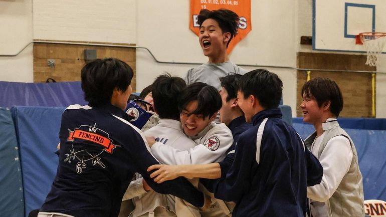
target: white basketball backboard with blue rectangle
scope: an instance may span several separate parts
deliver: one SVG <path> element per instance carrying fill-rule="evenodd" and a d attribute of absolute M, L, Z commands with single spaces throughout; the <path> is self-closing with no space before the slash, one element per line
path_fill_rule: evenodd
<path fill-rule="evenodd" d="M 313 0 L 314 50 L 365 53 L 364 46 L 355 44 L 362 32 L 386 32 L 384 0 Z"/>

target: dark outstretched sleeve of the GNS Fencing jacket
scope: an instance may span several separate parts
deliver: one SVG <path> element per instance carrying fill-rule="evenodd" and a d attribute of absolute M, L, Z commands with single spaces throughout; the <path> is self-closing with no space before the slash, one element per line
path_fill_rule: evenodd
<path fill-rule="evenodd" d="M 173 180 L 158 184 L 150 178 L 153 171 L 147 172 L 146 169 L 154 164 L 159 164 L 158 161 L 149 153 L 146 145 L 139 134 L 136 134 L 136 143 L 132 145 L 132 157 L 137 162 L 137 172 L 140 173 L 146 180 L 147 184 L 156 192 L 162 194 L 171 194 L 182 198 L 194 206 L 204 206 L 204 194 L 196 189 L 188 180 L 183 177 L 178 177 Z"/>

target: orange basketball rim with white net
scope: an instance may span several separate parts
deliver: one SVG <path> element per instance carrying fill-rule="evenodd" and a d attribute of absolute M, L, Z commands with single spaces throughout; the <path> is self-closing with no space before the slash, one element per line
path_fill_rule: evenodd
<path fill-rule="evenodd" d="M 379 64 L 379 55 L 386 44 L 386 33 L 359 33 L 355 37 L 357 45 L 364 45 L 367 52 L 366 65 L 376 66 Z"/>

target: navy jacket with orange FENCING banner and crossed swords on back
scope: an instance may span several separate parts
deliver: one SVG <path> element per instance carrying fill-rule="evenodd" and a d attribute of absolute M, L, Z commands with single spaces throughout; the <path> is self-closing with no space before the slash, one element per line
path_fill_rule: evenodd
<path fill-rule="evenodd" d="M 82 216 L 118 216 L 133 173 L 142 174 L 157 192 L 172 194 L 196 206 L 203 193 L 186 179 L 162 184 L 149 178 L 147 167 L 158 162 L 148 152 L 130 117 L 111 104 L 97 108 L 73 105 L 62 115 L 57 175 L 40 211 Z"/>

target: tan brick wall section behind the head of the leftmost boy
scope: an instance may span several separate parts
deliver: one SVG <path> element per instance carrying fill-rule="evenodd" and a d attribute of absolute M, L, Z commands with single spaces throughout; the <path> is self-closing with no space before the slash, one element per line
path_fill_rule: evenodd
<path fill-rule="evenodd" d="M 124 47 L 34 43 L 34 82 L 46 82 L 48 78 L 80 81 L 80 71 L 85 64 L 84 49 L 96 49 L 100 59 L 112 57 L 126 62 L 134 70 L 131 84 L 136 91 L 135 48 Z M 55 61 L 54 67 L 48 66 L 48 59 Z"/>

